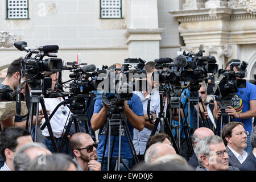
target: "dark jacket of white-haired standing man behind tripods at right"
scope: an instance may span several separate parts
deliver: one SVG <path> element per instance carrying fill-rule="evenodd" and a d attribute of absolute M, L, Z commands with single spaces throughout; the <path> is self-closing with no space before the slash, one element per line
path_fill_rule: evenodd
<path fill-rule="evenodd" d="M 210 111 L 212 111 L 212 115 L 213 115 L 214 105 L 209 104 L 209 108 L 210 108 Z M 202 110 L 201 112 L 203 113 L 204 111 Z M 209 121 L 209 125 L 208 125 L 207 120 L 205 120 L 205 122 L 203 122 L 203 119 L 201 118 L 201 115 L 199 113 L 199 127 L 208 127 L 208 129 L 212 130 L 213 129 L 213 123 L 212 123 L 212 121 L 210 121 L 210 118 L 208 118 L 208 121 Z M 216 127 L 217 127 L 217 133 L 216 133 L 216 129 L 214 128 L 214 134 L 219 136 L 220 135 L 220 123 L 218 125 L 218 120 L 217 119 L 215 119 L 215 123 L 216 123 Z M 197 110 L 196 109 L 194 109 L 194 111 L 193 111 L 193 129 L 194 130 L 197 129 Z"/>

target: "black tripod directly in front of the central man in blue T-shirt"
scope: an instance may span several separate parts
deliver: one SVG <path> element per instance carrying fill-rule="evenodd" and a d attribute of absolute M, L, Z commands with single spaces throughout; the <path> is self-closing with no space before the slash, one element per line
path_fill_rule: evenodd
<path fill-rule="evenodd" d="M 103 150 L 102 162 L 101 162 L 101 164 L 104 163 L 105 152 L 106 152 L 106 143 L 107 143 L 107 138 L 108 138 L 108 171 L 110 170 L 110 163 L 112 163 L 112 161 L 110 161 L 110 140 L 113 137 L 112 151 L 111 151 L 111 158 L 112 158 L 116 136 L 118 136 L 118 142 L 119 142 L 118 143 L 118 157 L 114 158 L 114 166 L 111 170 L 113 170 L 115 168 L 115 170 L 120 171 L 121 163 L 127 170 L 130 170 L 125 165 L 125 163 L 123 163 L 123 160 L 121 158 L 122 136 L 126 136 L 127 142 L 129 144 L 131 154 L 133 155 L 135 163 L 136 163 L 136 165 L 139 164 L 139 159 L 138 159 L 138 156 L 136 154 L 136 151 L 135 151 L 135 148 L 133 145 L 133 140 L 131 138 L 129 127 L 127 125 L 127 118 L 124 113 L 124 109 L 125 109 L 125 106 L 124 106 L 123 100 L 118 105 L 110 105 L 109 106 L 110 117 L 108 117 L 108 119 L 106 121 L 106 125 L 105 125 L 106 132 L 104 134 L 106 135 L 106 138 L 105 138 L 105 144 L 104 144 L 104 150 Z M 104 130 L 104 129 L 102 129 L 102 130 Z"/>

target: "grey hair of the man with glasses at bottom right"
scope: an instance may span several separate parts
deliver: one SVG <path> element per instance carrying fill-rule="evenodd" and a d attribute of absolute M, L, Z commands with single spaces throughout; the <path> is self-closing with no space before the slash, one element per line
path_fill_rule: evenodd
<path fill-rule="evenodd" d="M 195 148 L 196 157 L 198 159 L 198 162 L 200 166 L 203 165 L 202 160 L 200 159 L 201 154 L 208 155 L 210 153 L 210 144 L 217 144 L 217 143 L 223 143 L 222 138 L 214 135 L 214 136 L 207 136 L 202 138 L 199 143 L 197 143 Z"/>

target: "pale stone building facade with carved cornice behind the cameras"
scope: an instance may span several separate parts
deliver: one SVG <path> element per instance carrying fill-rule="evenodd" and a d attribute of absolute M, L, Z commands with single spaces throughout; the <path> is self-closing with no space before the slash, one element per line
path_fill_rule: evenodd
<path fill-rule="evenodd" d="M 0 72 L 26 55 L 13 47 L 57 45 L 58 57 L 111 65 L 141 57 L 154 61 L 177 51 L 216 56 L 219 68 L 230 59 L 249 63 L 247 80 L 256 68 L 254 1 L 206 0 L 23 0 L 0 2 Z M 23 4 L 22 4 L 23 3 Z M 11 6 L 10 6 L 11 5 Z M 15 9 L 16 8 L 16 9 Z M 18 16 L 19 14 L 19 16 Z M 18 17 L 17 17 L 18 16 Z M 64 77 L 68 78 L 68 72 Z"/>

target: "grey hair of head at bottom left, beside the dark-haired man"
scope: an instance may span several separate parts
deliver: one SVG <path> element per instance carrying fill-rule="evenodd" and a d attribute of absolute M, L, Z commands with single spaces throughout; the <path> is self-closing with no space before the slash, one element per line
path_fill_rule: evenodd
<path fill-rule="evenodd" d="M 19 150 L 14 155 L 13 168 L 15 171 L 27 171 L 28 167 L 30 166 L 31 159 L 24 152 L 30 148 L 35 148 L 35 147 L 47 149 L 47 147 L 43 143 L 34 142 L 34 143 L 24 144 L 24 146 L 20 147 Z"/>

